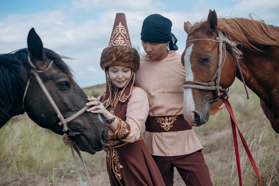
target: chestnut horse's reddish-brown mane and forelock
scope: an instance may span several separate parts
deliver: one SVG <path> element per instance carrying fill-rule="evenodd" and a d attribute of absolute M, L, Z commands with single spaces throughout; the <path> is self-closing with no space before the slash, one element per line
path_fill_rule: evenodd
<path fill-rule="evenodd" d="M 193 33 L 197 29 L 204 28 L 206 20 L 195 23 L 190 29 Z M 228 33 L 236 39 L 242 46 L 251 50 L 261 52 L 262 47 L 279 47 L 279 38 L 272 30 L 276 29 L 273 25 L 267 25 L 263 20 L 254 20 L 245 18 L 218 18 L 217 30 Z"/>

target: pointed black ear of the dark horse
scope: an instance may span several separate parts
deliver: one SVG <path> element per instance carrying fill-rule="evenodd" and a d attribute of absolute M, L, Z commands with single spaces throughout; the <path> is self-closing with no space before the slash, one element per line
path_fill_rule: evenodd
<path fill-rule="evenodd" d="M 42 45 L 42 40 L 35 32 L 35 29 L 32 28 L 27 36 L 27 46 L 30 54 L 37 58 L 38 60 L 43 60 L 44 48 Z"/>

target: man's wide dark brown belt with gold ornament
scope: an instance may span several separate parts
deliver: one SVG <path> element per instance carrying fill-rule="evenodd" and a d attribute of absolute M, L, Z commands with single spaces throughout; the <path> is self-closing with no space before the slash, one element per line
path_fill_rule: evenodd
<path fill-rule="evenodd" d="M 148 116 L 145 122 L 145 131 L 148 132 L 173 132 L 190 129 L 192 129 L 192 126 L 186 122 L 183 115 Z"/>

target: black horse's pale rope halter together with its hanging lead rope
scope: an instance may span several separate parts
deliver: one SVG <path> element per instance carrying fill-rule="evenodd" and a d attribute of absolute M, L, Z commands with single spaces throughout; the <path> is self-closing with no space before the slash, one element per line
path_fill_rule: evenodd
<path fill-rule="evenodd" d="M 73 114 L 71 117 L 69 118 L 64 118 L 62 113 L 60 112 L 59 108 L 57 107 L 57 105 L 55 104 L 54 100 L 52 99 L 51 95 L 49 94 L 49 92 L 47 91 L 47 88 L 46 86 L 43 84 L 40 76 L 38 75 L 38 73 L 43 73 L 43 72 L 46 72 L 52 65 L 53 63 L 53 60 L 51 61 L 50 65 L 47 67 L 47 69 L 43 70 L 43 71 L 39 71 L 39 70 L 36 70 L 36 67 L 34 66 L 34 64 L 31 62 L 30 60 L 30 57 L 29 57 L 29 54 L 27 54 L 27 57 L 28 57 L 28 62 L 29 64 L 32 66 L 33 69 L 31 69 L 31 72 L 34 74 L 39 86 L 41 87 L 42 91 L 44 92 L 44 94 L 46 95 L 47 99 L 49 100 L 49 102 L 51 103 L 51 106 L 53 107 L 53 109 L 55 110 L 58 118 L 60 119 L 60 122 L 58 123 L 60 126 L 63 124 L 63 132 L 66 132 L 68 131 L 68 126 L 67 126 L 67 123 L 72 121 L 73 119 L 75 119 L 76 117 L 80 116 L 82 113 L 84 113 L 86 111 L 86 109 L 88 108 L 87 105 L 85 105 L 81 110 L 79 110 L 77 113 Z M 26 96 L 26 92 L 28 90 L 28 87 L 29 87 L 29 84 L 30 84 L 30 78 L 28 79 L 27 81 L 27 84 L 26 84 L 26 88 L 25 88 L 25 91 L 24 91 L 24 95 L 23 95 L 23 109 L 25 111 L 25 108 L 24 108 L 24 98 Z M 62 123 L 61 123 L 62 122 Z M 70 130 L 71 131 L 71 130 Z M 72 151 L 72 155 L 73 155 L 73 159 L 74 159 L 74 164 L 75 164 L 75 167 L 76 167 L 76 170 L 77 170 L 77 173 L 78 173 L 78 179 L 79 179 L 79 182 L 80 182 L 80 185 L 81 186 L 86 186 L 86 183 L 83 184 L 82 182 L 82 178 L 79 174 L 79 171 L 78 171 L 78 167 L 77 167 L 77 163 L 76 163 L 76 158 L 75 158 L 75 155 L 74 155 L 74 152 L 73 152 L 73 149 L 77 152 L 81 162 L 82 162 L 82 165 L 83 165 L 83 168 L 85 170 L 85 173 L 86 173 L 86 177 L 87 177 L 87 180 L 88 180 L 88 184 L 89 186 L 91 186 L 91 182 L 90 182 L 90 178 L 89 178 L 89 174 L 88 174 L 88 171 L 87 171 L 87 168 L 86 168 L 86 165 L 85 165 L 85 162 L 83 160 L 83 157 L 82 157 L 82 154 L 78 148 L 78 145 L 77 144 L 74 144 L 73 147 L 71 147 L 71 151 Z"/>

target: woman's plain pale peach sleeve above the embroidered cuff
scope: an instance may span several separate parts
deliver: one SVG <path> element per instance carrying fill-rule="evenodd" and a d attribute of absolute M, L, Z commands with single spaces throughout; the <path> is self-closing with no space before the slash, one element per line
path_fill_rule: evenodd
<path fill-rule="evenodd" d="M 99 97 L 100 99 L 100 97 Z M 140 132 L 148 116 L 149 104 L 144 90 L 137 87 L 132 91 L 127 105 L 126 123 L 130 125 L 130 134 L 122 141 L 133 143 L 140 138 Z M 108 134 L 113 135 L 113 131 L 108 127 Z"/>

